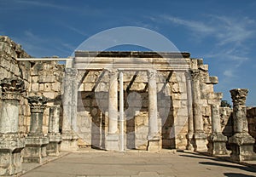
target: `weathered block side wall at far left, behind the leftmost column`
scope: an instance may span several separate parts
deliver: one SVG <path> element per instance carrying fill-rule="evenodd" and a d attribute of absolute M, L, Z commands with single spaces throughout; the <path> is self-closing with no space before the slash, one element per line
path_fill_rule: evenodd
<path fill-rule="evenodd" d="M 19 44 L 13 42 L 9 37 L 0 36 L 0 80 L 4 77 L 18 77 L 25 82 L 26 90 L 23 93 L 23 98 L 20 100 L 19 125 L 21 134 L 26 134 L 27 132 L 26 125 L 27 118 L 29 117 L 29 106 L 25 97 L 30 89 L 31 64 L 29 61 L 17 61 L 15 59 L 29 57 L 30 55 L 26 54 Z M 0 100 L 0 108 L 1 103 Z"/>

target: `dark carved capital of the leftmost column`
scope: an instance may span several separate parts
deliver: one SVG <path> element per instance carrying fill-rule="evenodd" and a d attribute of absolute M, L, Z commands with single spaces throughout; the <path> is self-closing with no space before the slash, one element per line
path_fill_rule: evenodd
<path fill-rule="evenodd" d="M 25 84 L 20 78 L 3 78 L 0 82 L 2 100 L 20 100 L 21 93 L 25 91 Z"/>

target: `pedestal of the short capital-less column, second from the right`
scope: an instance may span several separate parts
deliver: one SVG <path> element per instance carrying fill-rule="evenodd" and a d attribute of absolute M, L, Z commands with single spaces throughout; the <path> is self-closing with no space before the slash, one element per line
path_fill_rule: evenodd
<path fill-rule="evenodd" d="M 227 141 L 228 138 L 222 133 L 211 134 L 208 137 L 208 154 L 211 156 L 230 154 L 226 148 Z"/>

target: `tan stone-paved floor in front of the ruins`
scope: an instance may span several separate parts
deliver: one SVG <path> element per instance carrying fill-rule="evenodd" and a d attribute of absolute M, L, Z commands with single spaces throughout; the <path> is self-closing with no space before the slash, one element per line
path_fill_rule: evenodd
<path fill-rule="evenodd" d="M 32 164 L 26 164 L 26 168 Z M 191 152 L 78 151 L 28 171 L 23 177 L 256 176 L 256 168 Z"/>

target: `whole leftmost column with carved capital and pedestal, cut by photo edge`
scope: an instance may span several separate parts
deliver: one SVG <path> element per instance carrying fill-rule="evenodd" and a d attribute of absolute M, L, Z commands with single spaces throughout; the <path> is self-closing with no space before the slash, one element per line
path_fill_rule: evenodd
<path fill-rule="evenodd" d="M 20 138 L 19 106 L 24 82 L 18 78 L 4 78 L 1 81 L 3 105 L 0 112 L 0 176 L 22 172 L 20 151 L 25 139 Z"/>

